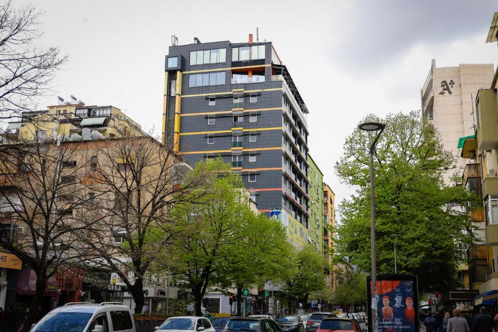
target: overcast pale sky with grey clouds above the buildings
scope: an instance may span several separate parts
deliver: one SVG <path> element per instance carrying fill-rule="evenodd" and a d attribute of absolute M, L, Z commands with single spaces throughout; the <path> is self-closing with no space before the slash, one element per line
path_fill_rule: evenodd
<path fill-rule="evenodd" d="M 274 42 L 307 107 L 310 153 L 337 201 L 353 193 L 334 163 L 344 138 L 367 113 L 420 109 L 430 69 L 498 62 L 485 44 L 496 0 L 14 0 L 45 11 L 41 43 L 70 61 L 56 97 L 113 105 L 160 131 L 164 56 L 180 44 L 230 40 L 249 33 Z"/>

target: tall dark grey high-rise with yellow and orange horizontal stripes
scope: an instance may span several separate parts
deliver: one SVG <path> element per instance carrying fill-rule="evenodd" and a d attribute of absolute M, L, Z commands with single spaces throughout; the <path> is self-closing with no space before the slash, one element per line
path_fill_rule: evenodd
<path fill-rule="evenodd" d="M 221 156 L 262 212 L 308 241 L 308 110 L 271 42 L 169 47 L 163 139 L 195 164 Z"/>

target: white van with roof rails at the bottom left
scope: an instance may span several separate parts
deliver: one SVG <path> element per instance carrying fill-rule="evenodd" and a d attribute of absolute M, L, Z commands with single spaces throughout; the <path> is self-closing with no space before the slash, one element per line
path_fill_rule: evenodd
<path fill-rule="evenodd" d="M 121 302 L 70 302 L 55 308 L 30 332 L 135 332 L 133 315 Z"/>

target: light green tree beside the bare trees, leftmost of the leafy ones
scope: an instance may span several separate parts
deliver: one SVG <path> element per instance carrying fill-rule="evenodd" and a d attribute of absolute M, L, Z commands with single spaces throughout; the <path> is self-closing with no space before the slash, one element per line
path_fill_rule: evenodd
<path fill-rule="evenodd" d="M 201 315 L 201 301 L 208 287 L 220 282 L 230 257 L 239 255 L 242 246 L 248 244 L 247 226 L 254 220 L 249 195 L 244 195 L 240 176 L 231 173 L 230 165 L 221 159 L 201 161 L 191 173 L 197 177 L 206 170 L 212 176 L 191 193 L 199 199 L 172 209 L 177 236 L 171 238 L 166 252 L 169 266 L 192 290 L 196 315 Z"/>

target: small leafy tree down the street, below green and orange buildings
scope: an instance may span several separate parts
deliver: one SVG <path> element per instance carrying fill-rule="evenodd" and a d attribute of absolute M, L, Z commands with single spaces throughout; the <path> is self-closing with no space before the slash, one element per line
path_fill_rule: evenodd
<path fill-rule="evenodd" d="M 292 268 L 292 275 L 285 282 L 283 290 L 297 310 L 298 300 L 306 303 L 310 294 L 325 289 L 325 277 L 329 275 L 330 267 L 323 254 L 310 244 L 297 252 Z"/>

